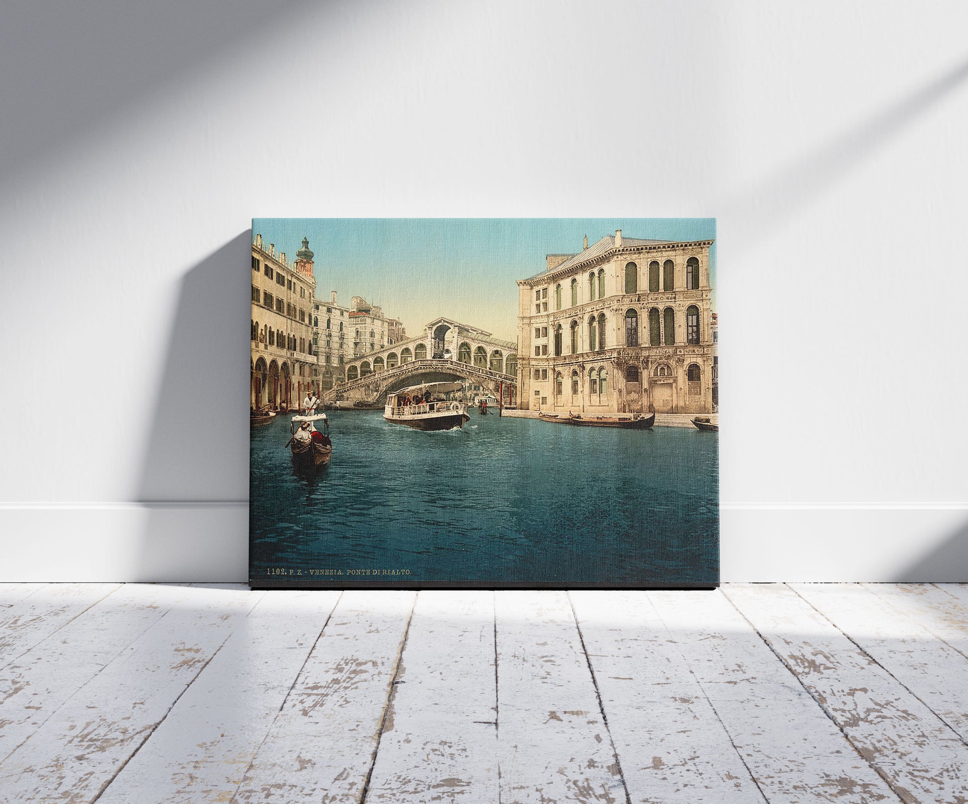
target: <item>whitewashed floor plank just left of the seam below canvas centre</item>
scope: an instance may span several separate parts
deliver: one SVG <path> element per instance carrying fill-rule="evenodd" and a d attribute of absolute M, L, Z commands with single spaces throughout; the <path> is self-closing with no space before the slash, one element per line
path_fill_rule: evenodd
<path fill-rule="evenodd" d="M 367 802 L 498 802 L 494 593 L 417 599 Z"/>

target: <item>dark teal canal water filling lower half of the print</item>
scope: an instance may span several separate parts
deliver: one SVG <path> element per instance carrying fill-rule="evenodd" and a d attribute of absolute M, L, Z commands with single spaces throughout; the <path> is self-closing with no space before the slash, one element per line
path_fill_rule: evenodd
<path fill-rule="evenodd" d="M 718 582 L 715 432 L 327 415 L 333 456 L 312 478 L 293 472 L 289 417 L 252 431 L 255 582 Z"/>

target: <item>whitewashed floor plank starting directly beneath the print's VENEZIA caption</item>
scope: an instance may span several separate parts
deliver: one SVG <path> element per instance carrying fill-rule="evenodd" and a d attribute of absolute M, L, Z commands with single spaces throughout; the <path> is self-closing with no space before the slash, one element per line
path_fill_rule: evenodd
<path fill-rule="evenodd" d="M 339 596 L 266 594 L 99 804 L 230 800 Z"/>

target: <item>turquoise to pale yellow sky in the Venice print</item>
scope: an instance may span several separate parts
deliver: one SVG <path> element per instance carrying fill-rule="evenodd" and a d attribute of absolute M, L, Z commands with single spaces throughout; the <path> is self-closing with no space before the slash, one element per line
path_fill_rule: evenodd
<path fill-rule="evenodd" d="M 277 252 L 295 259 L 302 238 L 316 253 L 316 294 L 363 296 L 400 318 L 408 335 L 439 315 L 517 341 L 517 280 L 544 269 L 545 254 L 577 253 L 621 229 L 625 237 L 705 240 L 711 218 L 255 218 Z M 716 286 L 716 247 L 710 253 Z M 713 297 L 713 310 L 714 297 Z"/>

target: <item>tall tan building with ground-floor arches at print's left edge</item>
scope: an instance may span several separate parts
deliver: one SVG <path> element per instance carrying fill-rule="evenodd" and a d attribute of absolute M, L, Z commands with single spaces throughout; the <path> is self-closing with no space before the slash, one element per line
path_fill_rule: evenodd
<path fill-rule="evenodd" d="M 308 388 L 318 392 L 313 348 L 313 252 L 309 240 L 289 262 L 257 234 L 252 246 L 252 407 L 294 409 Z"/>

